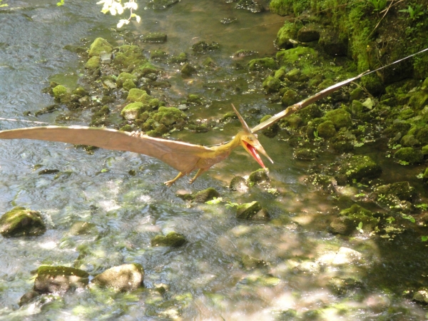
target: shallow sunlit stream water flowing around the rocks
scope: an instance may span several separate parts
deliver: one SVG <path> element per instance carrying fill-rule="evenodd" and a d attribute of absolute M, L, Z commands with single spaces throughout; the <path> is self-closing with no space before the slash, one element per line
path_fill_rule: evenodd
<path fill-rule="evenodd" d="M 32 118 L 24 112 L 34 114 L 53 103 L 51 96 L 41 93 L 49 80 L 68 86 L 78 81 L 82 63 L 63 46 L 87 44 L 98 36 L 123 43 L 123 36 L 111 30 L 116 17 L 101 14 L 96 1 L 66 1 L 61 7 L 56 2 L 10 0 L 9 8 L 0 11 L 2 118 L 54 123 L 58 113 Z M 139 4 L 142 23 L 129 26 L 129 32 L 168 34 L 165 44 L 144 45 L 146 51 L 191 53 L 190 46 L 200 40 L 221 45 L 220 51 L 210 54 L 218 70 L 194 79 L 158 64 L 172 86 L 168 93 L 153 91 L 153 96 L 164 94 L 175 102 L 188 93 L 203 96 L 209 103 L 190 109 L 195 119 L 219 118 L 230 111 L 230 103 L 243 112 L 281 110 L 280 105 L 267 103 L 260 78 L 237 67 L 248 59 L 232 55 L 238 49 L 257 51 L 259 57 L 275 53 L 272 41 L 284 18 L 268 11 L 233 9 L 235 4 L 226 1 L 181 0 L 164 11 L 143 9 L 145 1 Z M 221 24 L 223 18 L 237 20 Z M 0 123 L 1 129 L 24 126 L 33 125 Z M 237 130 L 231 126 L 176 136 L 190 143 L 220 143 Z M 327 233 L 331 215 L 350 204 L 304 183 L 305 170 L 312 164 L 293 159 L 285 140 L 260 135 L 260 141 L 275 161 L 269 165 L 275 193 L 257 187 L 230 193 L 227 186 L 233 175 L 258 169 L 239 149 L 193 185 L 183 179 L 166 188 L 163 182 L 173 178 L 175 170 L 146 156 L 103 150 L 87 155 L 63 143 L 0 141 L 0 212 L 25 206 L 39 210 L 48 223 L 48 231 L 39 237 L 0 238 L 0 320 L 291 320 L 288 309 L 297 310 L 302 320 L 422 320 L 424 309 L 402 292 L 424 283 L 426 247 L 414 235 L 371 240 Z M 365 152 L 374 153 L 370 148 Z M 334 158 L 322 156 L 317 165 Z M 38 175 L 35 165 L 67 175 Z M 232 203 L 258 200 L 272 220 L 248 223 L 237 220 L 225 203 L 189 204 L 175 196 L 177 190 L 208 187 Z M 70 226 L 78 220 L 94 223 L 99 233 L 70 235 Z M 182 233 L 188 242 L 173 249 L 151 247 L 153 236 L 170 230 Z M 340 265 L 336 255 L 340 248 L 357 250 L 362 259 Z M 241 263 L 244 255 L 267 264 L 247 270 Z M 296 268 L 304 259 L 316 261 L 319 270 Z M 43 304 L 18 305 L 31 290 L 40 265 L 76 266 L 96 275 L 124 263 L 143 265 L 141 291 L 78 290 L 49 297 Z M 327 287 L 332 277 L 355 275 L 363 290 L 338 295 Z M 169 285 L 164 295 L 150 290 L 158 283 Z M 322 315 L 315 310 L 322 310 Z"/>

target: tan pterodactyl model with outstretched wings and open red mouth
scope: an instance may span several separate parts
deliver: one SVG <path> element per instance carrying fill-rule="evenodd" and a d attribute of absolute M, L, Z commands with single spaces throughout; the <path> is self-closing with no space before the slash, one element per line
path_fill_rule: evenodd
<path fill-rule="evenodd" d="M 271 126 L 281 118 L 290 116 L 292 113 L 295 113 L 301 108 L 310 105 L 310 103 L 314 103 L 315 101 L 329 95 L 333 91 L 336 91 L 340 87 L 360 78 L 361 76 L 362 75 L 337 83 L 336 85 L 330 86 L 304 101 L 300 101 L 300 103 L 295 103 L 295 105 L 288 107 L 285 111 L 277 113 L 275 116 L 272 116 L 267 121 L 260 123 L 253 129 L 248 127 L 247 123 L 245 123 L 242 116 L 240 116 L 235 106 L 232 105 L 233 110 L 238 115 L 238 118 L 243 125 L 243 131 L 240 131 L 232 141 L 220 146 L 205 147 L 178 141 L 168 141 L 167 139 L 162 138 L 153 138 L 138 132 L 129 133 L 109 128 L 83 126 L 41 126 L 12 129 L 9 131 L 0 131 L 0 138 L 28 138 L 41 141 L 82 144 L 114 151 L 131 151 L 158 158 L 180 172 L 173 180 L 165 182 L 165 185 L 170 187 L 175 183 L 175 180 L 178 180 L 178 178 L 188 175 L 193 172 L 193 170 L 198 169 L 196 175 L 190 179 L 190 183 L 193 183 L 196 178 L 211 166 L 227 158 L 232 150 L 238 146 L 243 146 L 245 151 L 248 151 L 248 153 L 255 158 L 255 161 L 265 168 L 258 152 L 266 156 L 266 158 L 272 163 L 273 161 L 269 156 L 267 156 L 263 146 L 261 146 L 258 141 L 257 135 L 255 134 L 256 131 L 260 131 L 261 129 Z"/>

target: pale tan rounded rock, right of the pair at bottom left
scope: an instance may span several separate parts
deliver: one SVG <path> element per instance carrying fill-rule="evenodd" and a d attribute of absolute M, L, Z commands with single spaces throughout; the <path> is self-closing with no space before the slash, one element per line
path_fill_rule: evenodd
<path fill-rule="evenodd" d="M 110 287 L 116 292 L 137 290 L 143 285 L 144 270 L 141 264 L 132 263 L 111 267 L 93 278 L 93 284 Z"/>

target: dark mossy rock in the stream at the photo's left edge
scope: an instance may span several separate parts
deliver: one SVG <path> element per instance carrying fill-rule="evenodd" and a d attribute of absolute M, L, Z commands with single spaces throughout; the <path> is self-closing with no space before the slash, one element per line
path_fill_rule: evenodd
<path fill-rule="evenodd" d="M 0 218 L 0 233 L 5 238 L 41 235 L 45 232 L 46 225 L 36 210 L 16 207 Z"/>

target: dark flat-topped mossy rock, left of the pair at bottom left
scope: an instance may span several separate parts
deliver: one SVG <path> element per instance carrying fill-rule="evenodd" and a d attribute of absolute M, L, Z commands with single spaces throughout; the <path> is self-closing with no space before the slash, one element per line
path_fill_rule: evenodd
<path fill-rule="evenodd" d="M 88 273 L 66 266 L 41 266 L 37 269 L 34 291 L 39 293 L 56 293 L 86 287 Z"/>

